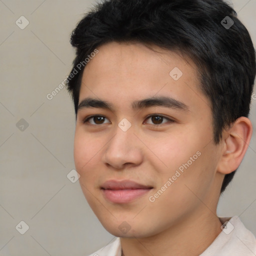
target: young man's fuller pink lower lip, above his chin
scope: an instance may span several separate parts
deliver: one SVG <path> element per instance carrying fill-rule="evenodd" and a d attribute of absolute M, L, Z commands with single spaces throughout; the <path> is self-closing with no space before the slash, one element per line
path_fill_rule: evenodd
<path fill-rule="evenodd" d="M 151 188 L 136 188 L 136 189 L 101 189 L 105 198 L 115 203 L 126 203 L 133 199 L 146 194 Z"/>

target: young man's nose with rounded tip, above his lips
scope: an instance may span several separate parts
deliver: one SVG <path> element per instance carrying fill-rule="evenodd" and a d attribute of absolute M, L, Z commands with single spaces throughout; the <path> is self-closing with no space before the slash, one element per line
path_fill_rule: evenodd
<path fill-rule="evenodd" d="M 104 147 L 102 160 L 114 169 L 139 165 L 143 159 L 142 147 L 143 144 L 134 134 L 132 126 L 126 131 L 117 126 L 115 134 Z"/>

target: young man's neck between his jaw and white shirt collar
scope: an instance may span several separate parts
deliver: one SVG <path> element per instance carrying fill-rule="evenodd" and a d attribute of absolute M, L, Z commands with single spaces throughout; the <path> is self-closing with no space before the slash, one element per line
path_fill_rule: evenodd
<path fill-rule="evenodd" d="M 160 233 L 149 237 L 121 237 L 121 247 L 125 256 L 198 256 L 221 232 L 221 222 L 207 209 L 204 214 L 185 217 Z"/>

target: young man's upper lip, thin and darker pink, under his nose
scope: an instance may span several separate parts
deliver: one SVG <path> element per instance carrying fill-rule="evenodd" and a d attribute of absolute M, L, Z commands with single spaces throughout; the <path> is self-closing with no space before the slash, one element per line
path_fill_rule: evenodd
<path fill-rule="evenodd" d="M 103 189 L 136 189 L 136 188 L 152 188 L 152 186 L 139 184 L 132 180 L 107 180 L 105 181 L 100 188 Z"/>

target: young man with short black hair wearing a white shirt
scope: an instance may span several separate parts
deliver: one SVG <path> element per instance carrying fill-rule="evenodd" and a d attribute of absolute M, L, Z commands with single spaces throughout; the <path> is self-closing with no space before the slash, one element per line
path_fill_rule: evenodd
<path fill-rule="evenodd" d="M 110 0 L 71 35 L 82 191 L 113 242 L 91 255 L 256 255 L 219 195 L 248 147 L 255 52 L 222 0 Z M 228 221 L 229 220 L 229 221 Z"/>

